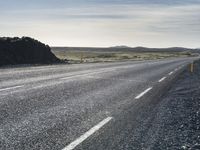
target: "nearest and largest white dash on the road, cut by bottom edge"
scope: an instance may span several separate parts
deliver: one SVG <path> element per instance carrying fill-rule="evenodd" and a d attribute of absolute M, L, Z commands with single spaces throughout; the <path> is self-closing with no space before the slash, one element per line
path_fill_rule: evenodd
<path fill-rule="evenodd" d="M 107 124 L 112 117 L 107 117 L 103 121 L 101 121 L 99 124 L 88 130 L 86 133 L 84 133 L 82 136 L 80 136 L 78 139 L 70 143 L 68 146 L 63 148 L 62 150 L 73 150 L 75 147 L 77 147 L 79 144 L 81 144 L 83 141 L 85 141 L 88 137 L 90 137 L 92 134 L 94 134 L 96 131 L 98 131 L 100 128 L 102 128 L 105 124 Z"/>

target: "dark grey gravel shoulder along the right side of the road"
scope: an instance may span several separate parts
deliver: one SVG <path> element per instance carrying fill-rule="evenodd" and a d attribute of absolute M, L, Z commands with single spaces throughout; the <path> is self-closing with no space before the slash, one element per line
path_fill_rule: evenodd
<path fill-rule="evenodd" d="M 200 149 L 200 61 L 186 69 L 153 110 L 145 149 Z"/>

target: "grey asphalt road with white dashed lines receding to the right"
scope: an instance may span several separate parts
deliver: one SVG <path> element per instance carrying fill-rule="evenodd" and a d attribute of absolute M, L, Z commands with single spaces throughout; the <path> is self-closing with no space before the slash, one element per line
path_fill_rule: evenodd
<path fill-rule="evenodd" d="M 2 68 L 0 149 L 137 149 L 130 131 L 192 60 Z"/>

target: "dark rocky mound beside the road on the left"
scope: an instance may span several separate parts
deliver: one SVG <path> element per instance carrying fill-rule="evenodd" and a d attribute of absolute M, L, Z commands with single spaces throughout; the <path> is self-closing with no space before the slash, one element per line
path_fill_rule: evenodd
<path fill-rule="evenodd" d="M 0 38 L 0 66 L 61 62 L 48 45 L 29 37 Z"/>

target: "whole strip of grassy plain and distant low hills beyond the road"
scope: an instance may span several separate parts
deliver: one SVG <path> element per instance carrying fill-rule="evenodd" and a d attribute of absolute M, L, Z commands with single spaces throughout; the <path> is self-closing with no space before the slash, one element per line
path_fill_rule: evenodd
<path fill-rule="evenodd" d="M 83 62 L 113 62 L 126 60 L 153 60 L 164 58 L 198 56 L 199 51 L 181 47 L 146 48 L 116 46 L 108 48 L 98 47 L 52 47 L 52 52 L 60 59 L 69 63 Z"/>

